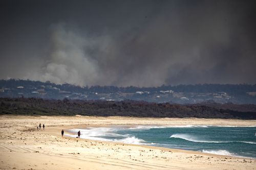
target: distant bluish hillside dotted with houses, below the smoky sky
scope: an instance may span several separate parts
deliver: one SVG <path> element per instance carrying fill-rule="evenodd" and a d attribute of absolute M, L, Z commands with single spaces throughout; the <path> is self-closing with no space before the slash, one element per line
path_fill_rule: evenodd
<path fill-rule="evenodd" d="M 42 98 L 156 103 L 256 104 L 256 85 L 197 84 L 160 87 L 75 86 L 30 80 L 0 80 L 0 98 Z"/>

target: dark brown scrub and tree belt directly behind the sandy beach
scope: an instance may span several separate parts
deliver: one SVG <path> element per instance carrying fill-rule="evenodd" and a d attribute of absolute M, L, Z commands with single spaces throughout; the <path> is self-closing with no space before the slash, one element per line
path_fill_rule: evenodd
<path fill-rule="evenodd" d="M 0 98 L 0 114 L 256 119 L 256 112 L 242 112 L 204 105 L 35 98 Z"/>

